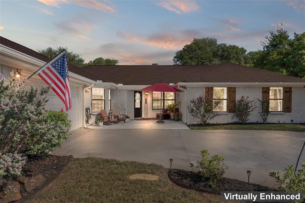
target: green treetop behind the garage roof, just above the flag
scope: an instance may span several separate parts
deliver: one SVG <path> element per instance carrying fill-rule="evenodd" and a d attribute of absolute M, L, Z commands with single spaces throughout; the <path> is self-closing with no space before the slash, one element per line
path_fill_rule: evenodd
<path fill-rule="evenodd" d="M 59 54 L 61 51 L 63 51 L 63 49 L 66 49 L 66 58 L 67 61 L 74 64 L 75 66 L 84 66 L 84 59 L 81 58 L 81 55 L 79 55 L 78 53 L 74 53 L 74 52 L 69 52 L 68 48 L 66 47 L 56 47 L 55 49 L 53 49 L 52 47 L 48 47 L 46 49 L 41 49 L 38 50 L 39 53 L 48 56 L 49 58 L 53 58 L 55 57 L 57 54 Z"/>

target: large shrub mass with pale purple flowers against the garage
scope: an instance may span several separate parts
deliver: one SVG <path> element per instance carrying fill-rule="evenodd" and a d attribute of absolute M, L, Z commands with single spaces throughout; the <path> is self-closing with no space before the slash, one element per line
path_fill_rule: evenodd
<path fill-rule="evenodd" d="M 28 87 L 27 78 L 18 79 L 12 72 L 9 80 L 0 80 L 1 154 L 45 155 L 66 140 L 70 127 L 48 121 L 45 105 L 50 87 Z M 60 139 L 58 139 L 60 138 Z"/>

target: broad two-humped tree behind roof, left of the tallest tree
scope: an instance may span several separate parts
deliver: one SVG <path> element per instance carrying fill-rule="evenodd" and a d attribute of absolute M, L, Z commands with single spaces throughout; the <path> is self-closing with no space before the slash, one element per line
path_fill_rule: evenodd
<path fill-rule="evenodd" d="M 173 58 L 175 65 L 215 65 L 226 61 L 245 64 L 247 50 L 236 45 L 217 44 L 215 38 L 194 39 L 176 52 Z"/>

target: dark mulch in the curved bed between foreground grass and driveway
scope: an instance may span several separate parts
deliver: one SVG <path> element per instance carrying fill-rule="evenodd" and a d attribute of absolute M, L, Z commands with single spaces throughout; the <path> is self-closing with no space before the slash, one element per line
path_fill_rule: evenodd
<path fill-rule="evenodd" d="M 235 180 L 231 178 L 222 178 L 215 187 L 210 187 L 207 181 L 203 181 L 198 173 L 192 171 L 185 171 L 182 169 L 170 169 L 170 175 L 180 183 L 188 186 L 197 187 L 203 190 L 209 190 L 214 192 L 221 191 L 277 191 L 274 188 L 267 186 L 247 183 L 241 180 Z"/>

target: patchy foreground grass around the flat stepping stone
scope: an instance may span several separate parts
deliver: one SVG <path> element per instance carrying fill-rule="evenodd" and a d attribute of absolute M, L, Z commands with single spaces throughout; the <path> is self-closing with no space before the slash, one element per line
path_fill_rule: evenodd
<path fill-rule="evenodd" d="M 28 202 L 220 202 L 220 197 L 179 187 L 161 165 L 105 158 L 75 158 Z M 159 180 L 130 180 L 150 173 Z"/>

